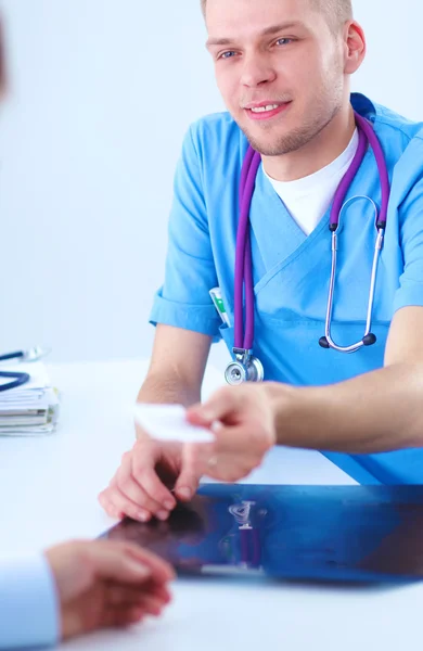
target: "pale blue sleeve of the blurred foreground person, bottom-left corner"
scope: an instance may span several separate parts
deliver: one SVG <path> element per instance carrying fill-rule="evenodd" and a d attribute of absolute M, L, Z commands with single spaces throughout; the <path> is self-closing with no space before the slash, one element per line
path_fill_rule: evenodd
<path fill-rule="evenodd" d="M 59 600 L 47 559 L 1 562 L 0 649 L 53 646 L 59 637 Z"/>

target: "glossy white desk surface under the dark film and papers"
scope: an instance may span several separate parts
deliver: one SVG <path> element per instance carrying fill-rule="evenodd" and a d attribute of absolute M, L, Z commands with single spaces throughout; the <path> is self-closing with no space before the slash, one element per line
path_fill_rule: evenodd
<path fill-rule="evenodd" d="M 133 443 L 132 405 L 145 361 L 51 366 L 62 391 L 57 432 L 0 438 L 0 556 L 95 537 L 115 521 L 97 501 Z M 221 384 L 208 369 L 204 395 Z M 354 484 L 313 451 L 271 452 L 251 483 Z M 423 584 L 333 587 L 200 578 L 174 584 L 165 615 L 126 631 L 70 641 L 68 650 L 384 651 L 418 648 Z"/>

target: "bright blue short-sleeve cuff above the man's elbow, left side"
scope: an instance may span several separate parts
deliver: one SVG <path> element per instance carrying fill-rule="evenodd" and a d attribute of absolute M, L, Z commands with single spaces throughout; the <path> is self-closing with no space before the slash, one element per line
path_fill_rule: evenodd
<path fill-rule="evenodd" d="M 153 326 L 165 323 L 166 326 L 174 326 L 183 330 L 192 330 L 193 332 L 213 336 L 215 341 L 221 339 L 219 334 L 221 319 L 217 315 L 213 303 L 210 305 L 175 303 L 163 298 L 161 291 L 154 297 L 153 308 L 150 314 L 150 323 Z"/>

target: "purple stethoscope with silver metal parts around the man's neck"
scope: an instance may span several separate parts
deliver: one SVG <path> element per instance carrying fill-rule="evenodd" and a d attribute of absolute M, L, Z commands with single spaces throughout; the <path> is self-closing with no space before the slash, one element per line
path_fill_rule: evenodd
<path fill-rule="evenodd" d="M 374 290 L 376 283 L 377 264 L 383 246 L 387 209 L 389 203 L 389 177 L 386 167 L 385 156 L 371 124 L 355 113 L 357 129 L 359 133 L 359 144 L 352 163 L 343 177 L 333 200 L 329 230 L 332 233 L 332 269 L 329 288 L 328 310 L 325 319 L 325 333 L 319 341 L 322 348 L 333 348 L 339 353 L 356 353 L 363 346 L 372 346 L 376 342 L 376 336 L 371 332 L 372 314 L 374 303 Z M 361 166 L 368 146 L 371 146 L 376 159 L 379 176 L 382 189 L 381 210 L 379 213 L 375 203 L 369 197 L 354 196 L 344 204 L 345 196 L 350 184 Z M 256 176 L 261 163 L 261 156 L 253 148 L 248 148 L 241 171 L 240 181 L 240 220 L 236 235 L 235 254 L 235 292 L 234 292 L 234 347 L 232 349 L 234 360 L 228 365 L 225 371 L 225 379 L 228 384 L 236 385 L 243 382 L 262 382 L 265 370 L 260 360 L 253 355 L 254 343 L 254 285 L 253 285 L 253 260 L 249 237 L 249 209 L 254 194 Z M 376 243 L 374 248 L 373 266 L 370 281 L 369 303 L 366 331 L 362 340 L 350 346 L 338 346 L 331 336 L 332 308 L 336 278 L 336 253 L 337 238 L 339 230 L 339 219 L 342 212 L 347 204 L 355 199 L 366 199 L 374 207 Z M 245 329 L 244 329 L 244 306 L 243 294 L 245 288 Z"/>

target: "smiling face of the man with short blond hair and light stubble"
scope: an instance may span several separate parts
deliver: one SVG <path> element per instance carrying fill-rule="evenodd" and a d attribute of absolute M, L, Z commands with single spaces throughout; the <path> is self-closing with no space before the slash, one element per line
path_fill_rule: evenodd
<path fill-rule="evenodd" d="M 207 0 L 207 49 L 219 90 L 264 155 L 300 149 L 349 101 L 345 28 L 335 34 L 316 4 Z"/>

